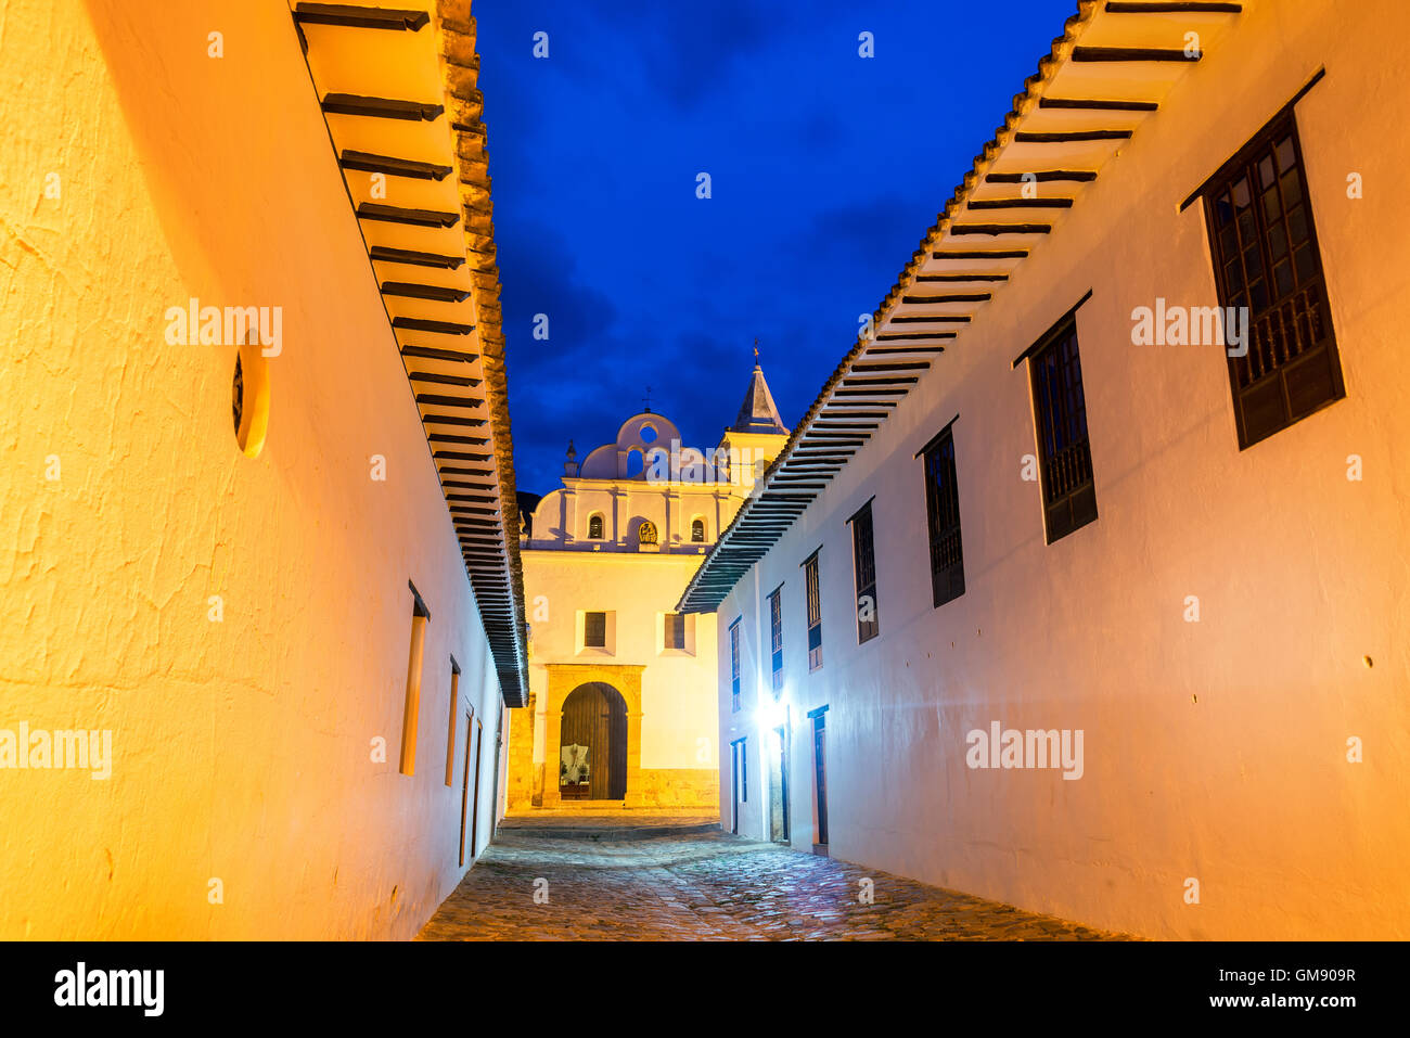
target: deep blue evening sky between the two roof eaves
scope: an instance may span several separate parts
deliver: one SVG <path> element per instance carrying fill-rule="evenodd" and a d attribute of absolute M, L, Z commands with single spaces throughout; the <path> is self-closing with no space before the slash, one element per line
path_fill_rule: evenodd
<path fill-rule="evenodd" d="M 715 446 L 754 337 L 795 423 L 1074 10 L 477 3 L 520 489 L 557 487 L 568 440 L 609 441 L 647 385 Z"/>

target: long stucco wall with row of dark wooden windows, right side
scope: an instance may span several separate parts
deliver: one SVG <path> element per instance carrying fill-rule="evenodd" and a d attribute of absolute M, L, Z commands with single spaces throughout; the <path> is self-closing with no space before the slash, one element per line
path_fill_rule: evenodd
<path fill-rule="evenodd" d="M 1389 0 L 1249 4 L 739 582 L 719 611 L 719 723 L 725 746 L 752 736 L 742 832 L 761 832 L 767 804 L 757 685 L 764 594 L 784 582 L 797 848 L 805 711 L 829 704 L 838 857 L 1148 936 L 1410 935 L 1410 97 L 1387 47 L 1406 38 L 1410 13 Z M 1179 204 L 1323 65 L 1297 124 L 1347 398 L 1241 453 L 1221 350 L 1135 347 L 1131 312 L 1217 302 L 1200 204 Z M 1352 172 L 1363 199 L 1347 195 Z M 1048 546 L 1039 488 L 1019 478 L 1028 372 L 1010 365 L 1089 289 L 1100 518 Z M 912 456 L 956 413 L 967 591 L 935 609 Z M 1363 481 L 1347 478 L 1351 454 Z M 857 646 L 845 520 L 871 495 L 881 635 Z M 819 544 L 825 663 L 809 674 L 798 566 Z M 1084 729 L 1084 776 L 970 770 L 964 736 L 991 721 Z M 1347 760 L 1351 736 L 1363 763 Z M 728 756 L 721 794 L 728 825 Z"/>

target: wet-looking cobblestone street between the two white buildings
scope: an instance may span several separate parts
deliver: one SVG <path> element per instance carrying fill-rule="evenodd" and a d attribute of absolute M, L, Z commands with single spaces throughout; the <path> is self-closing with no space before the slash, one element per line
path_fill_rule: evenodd
<path fill-rule="evenodd" d="M 643 824 L 646 819 L 642 819 Z M 606 834 L 615 836 L 616 834 Z M 547 880 L 547 886 L 539 880 Z M 874 900 L 862 898 L 871 881 Z M 536 889 L 540 900 L 534 900 Z M 547 893 L 547 903 L 543 903 Z M 419 941 L 1121 939 L 1012 905 L 719 832 L 501 828 Z"/>

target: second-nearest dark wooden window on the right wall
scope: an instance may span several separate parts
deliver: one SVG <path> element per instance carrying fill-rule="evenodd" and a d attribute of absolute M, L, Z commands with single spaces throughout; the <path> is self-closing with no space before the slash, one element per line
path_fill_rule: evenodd
<path fill-rule="evenodd" d="M 1028 358 L 1048 543 L 1097 518 L 1087 402 L 1077 355 L 1077 315 L 1067 315 Z"/>

